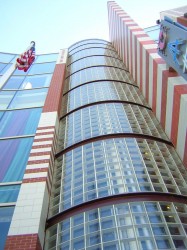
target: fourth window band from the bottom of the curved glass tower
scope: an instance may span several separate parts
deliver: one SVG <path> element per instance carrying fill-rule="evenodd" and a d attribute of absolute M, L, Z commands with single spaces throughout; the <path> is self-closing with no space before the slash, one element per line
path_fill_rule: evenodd
<path fill-rule="evenodd" d="M 140 90 L 133 85 L 123 82 L 99 81 L 82 85 L 66 94 L 62 106 L 64 107 L 66 103 L 67 110 L 63 109 L 63 114 L 83 105 L 107 100 L 127 101 L 147 106 Z"/>

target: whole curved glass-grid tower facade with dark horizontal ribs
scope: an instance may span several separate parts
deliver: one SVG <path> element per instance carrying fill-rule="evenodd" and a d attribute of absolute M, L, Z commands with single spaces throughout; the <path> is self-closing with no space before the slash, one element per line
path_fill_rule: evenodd
<path fill-rule="evenodd" d="M 110 43 L 69 48 L 61 115 L 45 249 L 186 249 L 187 171 Z"/>

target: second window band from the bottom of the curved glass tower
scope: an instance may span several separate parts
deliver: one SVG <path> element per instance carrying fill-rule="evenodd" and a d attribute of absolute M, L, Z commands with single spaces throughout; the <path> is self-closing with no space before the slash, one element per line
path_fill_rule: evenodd
<path fill-rule="evenodd" d="M 50 216 L 99 197 L 126 192 L 187 194 L 187 174 L 173 147 L 143 139 L 108 139 L 57 159 Z"/>

